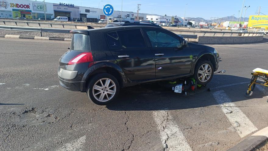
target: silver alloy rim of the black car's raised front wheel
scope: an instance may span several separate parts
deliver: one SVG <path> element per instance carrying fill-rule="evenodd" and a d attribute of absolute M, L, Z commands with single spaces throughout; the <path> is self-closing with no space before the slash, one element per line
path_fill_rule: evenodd
<path fill-rule="evenodd" d="M 210 79 L 212 69 L 209 64 L 203 64 L 198 70 L 198 79 L 201 82 L 206 82 Z"/>

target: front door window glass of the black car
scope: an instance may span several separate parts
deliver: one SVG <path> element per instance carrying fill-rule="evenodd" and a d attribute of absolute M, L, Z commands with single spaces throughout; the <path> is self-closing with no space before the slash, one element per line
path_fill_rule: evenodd
<path fill-rule="evenodd" d="M 153 29 L 146 29 L 145 31 L 152 47 L 182 47 L 179 38 L 175 38 L 170 34 Z"/>

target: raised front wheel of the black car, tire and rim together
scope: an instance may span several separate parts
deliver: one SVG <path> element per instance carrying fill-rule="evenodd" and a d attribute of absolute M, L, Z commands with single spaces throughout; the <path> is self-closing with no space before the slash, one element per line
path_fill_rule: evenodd
<path fill-rule="evenodd" d="M 203 70 L 203 68 L 205 68 L 206 66 L 207 66 L 207 70 Z M 201 72 L 203 75 L 201 74 Z M 214 75 L 214 66 L 212 65 L 210 61 L 206 61 L 206 60 L 198 61 L 195 67 L 195 73 L 194 73 L 194 77 L 195 77 L 195 80 L 197 81 L 197 84 L 200 84 L 200 85 L 208 84 L 213 78 L 213 75 Z"/>

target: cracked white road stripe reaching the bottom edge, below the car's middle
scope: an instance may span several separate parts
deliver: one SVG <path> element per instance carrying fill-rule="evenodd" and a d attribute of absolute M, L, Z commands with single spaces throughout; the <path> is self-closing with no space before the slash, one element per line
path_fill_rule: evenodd
<path fill-rule="evenodd" d="M 192 151 L 182 131 L 166 110 L 154 111 L 153 117 L 160 131 L 164 150 Z"/>

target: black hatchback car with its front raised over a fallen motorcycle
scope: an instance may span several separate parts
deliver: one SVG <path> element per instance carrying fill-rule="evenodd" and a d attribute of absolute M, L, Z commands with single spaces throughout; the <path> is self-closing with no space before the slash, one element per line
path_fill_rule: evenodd
<path fill-rule="evenodd" d="M 116 99 L 119 89 L 194 76 L 207 84 L 219 67 L 216 49 L 188 43 L 154 26 L 120 26 L 71 31 L 72 41 L 59 59 L 60 84 L 86 92 L 99 105 Z"/>

